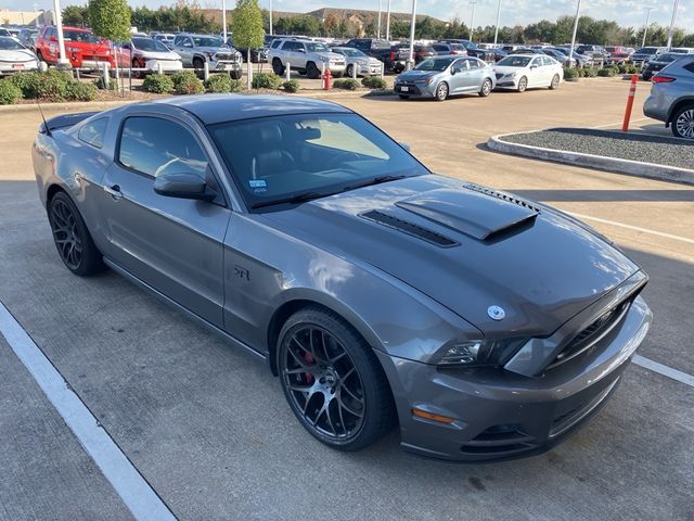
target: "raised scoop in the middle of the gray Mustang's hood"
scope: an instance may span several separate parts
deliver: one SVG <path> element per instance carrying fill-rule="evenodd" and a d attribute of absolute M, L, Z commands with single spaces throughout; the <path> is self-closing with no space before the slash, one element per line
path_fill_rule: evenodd
<path fill-rule="evenodd" d="M 490 193 L 487 193 L 490 192 Z M 539 208 L 491 190 L 440 189 L 396 206 L 478 241 L 493 241 L 532 226 Z"/>

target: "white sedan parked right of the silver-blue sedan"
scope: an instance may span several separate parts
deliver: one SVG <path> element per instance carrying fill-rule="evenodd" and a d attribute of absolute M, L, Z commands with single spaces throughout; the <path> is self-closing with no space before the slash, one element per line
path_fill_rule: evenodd
<path fill-rule="evenodd" d="M 511 54 L 494 65 L 497 88 L 525 92 L 535 87 L 556 89 L 564 78 L 564 68 L 545 55 Z"/>

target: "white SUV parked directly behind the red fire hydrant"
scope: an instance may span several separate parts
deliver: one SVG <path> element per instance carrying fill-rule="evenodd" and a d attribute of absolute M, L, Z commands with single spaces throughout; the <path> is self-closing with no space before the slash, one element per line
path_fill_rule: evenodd
<path fill-rule="evenodd" d="M 287 63 L 292 69 L 312 79 L 320 78 L 324 68 L 330 68 L 333 76 L 339 77 L 345 74 L 345 56 L 331 52 L 330 48 L 320 41 L 278 39 L 270 47 L 268 61 L 272 64 L 274 74 L 280 76 L 286 71 Z"/>

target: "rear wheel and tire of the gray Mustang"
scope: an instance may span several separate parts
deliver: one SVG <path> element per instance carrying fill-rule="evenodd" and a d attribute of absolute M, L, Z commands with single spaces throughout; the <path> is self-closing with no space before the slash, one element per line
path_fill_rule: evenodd
<path fill-rule="evenodd" d="M 49 202 L 48 220 L 53 232 L 53 243 L 67 269 L 87 277 L 104 268 L 103 257 L 87 225 L 65 192 L 57 192 Z"/>

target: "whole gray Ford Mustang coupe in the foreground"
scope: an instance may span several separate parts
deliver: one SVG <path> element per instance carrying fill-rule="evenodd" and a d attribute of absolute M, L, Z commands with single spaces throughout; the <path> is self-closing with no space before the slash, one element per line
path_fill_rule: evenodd
<path fill-rule="evenodd" d="M 646 275 L 540 203 L 430 173 L 343 106 L 181 97 L 43 124 L 57 253 L 267 360 L 343 450 L 399 425 L 453 460 L 547 449 L 615 391 Z"/>

